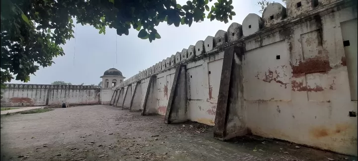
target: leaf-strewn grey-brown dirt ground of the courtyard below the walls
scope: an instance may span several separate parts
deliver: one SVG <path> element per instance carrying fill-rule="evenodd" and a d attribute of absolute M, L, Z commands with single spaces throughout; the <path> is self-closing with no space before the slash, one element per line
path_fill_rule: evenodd
<path fill-rule="evenodd" d="M 108 105 L 1 117 L 1 161 L 357 161 L 255 136 L 215 140 L 212 127 L 167 125 Z"/>

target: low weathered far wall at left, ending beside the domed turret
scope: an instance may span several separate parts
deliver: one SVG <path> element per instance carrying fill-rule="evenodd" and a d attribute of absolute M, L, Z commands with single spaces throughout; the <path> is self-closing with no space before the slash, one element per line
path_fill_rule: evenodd
<path fill-rule="evenodd" d="M 100 89 L 89 85 L 6 84 L 1 92 L 2 107 L 100 103 Z"/>

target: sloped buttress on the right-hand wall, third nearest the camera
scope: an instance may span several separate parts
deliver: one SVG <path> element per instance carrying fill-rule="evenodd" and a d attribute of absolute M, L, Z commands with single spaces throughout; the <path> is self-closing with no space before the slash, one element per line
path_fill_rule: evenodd
<path fill-rule="evenodd" d="M 157 76 L 150 77 L 148 88 L 144 97 L 142 115 L 156 115 L 158 114 L 158 87 Z"/>

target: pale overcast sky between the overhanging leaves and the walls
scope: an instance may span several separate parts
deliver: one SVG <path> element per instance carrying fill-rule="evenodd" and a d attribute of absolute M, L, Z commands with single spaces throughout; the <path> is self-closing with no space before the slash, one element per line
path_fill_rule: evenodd
<path fill-rule="evenodd" d="M 185 4 L 185 1 L 177 0 L 177 3 Z M 166 22 L 160 23 L 156 29 L 162 38 L 152 43 L 138 38 L 138 31 L 135 29 L 130 29 L 128 36 L 117 36 L 115 29 L 107 27 L 106 34 L 103 35 L 98 34 L 98 30 L 92 26 L 77 24 L 77 28 L 74 29 L 77 32 L 76 41 L 71 39 L 63 46 L 66 55 L 54 58 L 56 64 L 51 67 L 40 67 L 35 73 L 36 76 L 31 75 L 27 83 L 50 84 L 62 80 L 72 84 L 98 84 L 102 81 L 99 77 L 104 71 L 113 67 L 121 71 L 124 77 L 130 78 L 139 71 L 181 52 L 183 48 L 187 49 L 189 45 L 195 45 L 198 40 L 214 36 L 218 30 L 227 31 L 232 22 L 242 24 L 249 13 L 262 16 L 257 1 L 233 0 L 236 16 L 226 24 L 220 21 L 210 22 L 209 19 L 200 23 L 193 22 L 191 27 L 188 25 L 175 27 L 167 25 Z M 23 82 L 12 80 L 11 83 Z"/>

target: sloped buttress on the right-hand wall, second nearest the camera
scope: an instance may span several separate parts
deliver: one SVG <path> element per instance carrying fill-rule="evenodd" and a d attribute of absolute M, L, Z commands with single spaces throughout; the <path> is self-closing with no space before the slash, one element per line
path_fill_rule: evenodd
<path fill-rule="evenodd" d="M 180 123 L 187 120 L 186 66 L 179 65 L 168 100 L 165 123 Z"/>

